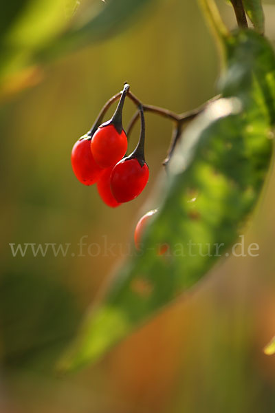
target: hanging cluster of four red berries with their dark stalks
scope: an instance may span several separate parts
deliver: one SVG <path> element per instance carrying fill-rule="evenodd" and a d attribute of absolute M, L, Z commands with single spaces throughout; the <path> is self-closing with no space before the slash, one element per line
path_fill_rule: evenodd
<path fill-rule="evenodd" d="M 98 193 L 109 207 L 118 207 L 140 195 L 149 178 L 144 159 L 145 123 L 140 109 L 141 132 L 135 150 L 125 156 L 128 142 L 122 127 L 122 109 L 129 85 L 124 85 L 111 120 L 96 125 L 72 149 L 72 168 L 85 184 L 97 184 Z"/>

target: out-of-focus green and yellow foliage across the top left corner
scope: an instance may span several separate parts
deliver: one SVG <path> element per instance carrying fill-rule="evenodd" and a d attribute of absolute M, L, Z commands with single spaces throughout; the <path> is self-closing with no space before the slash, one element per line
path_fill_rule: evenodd
<path fill-rule="evenodd" d="M 78 0 L 10 1 L 0 16 L 0 89 L 7 89 L 21 72 L 28 74 L 28 68 L 35 72 L 36 67 L 124 30 L 151 1 L 89 0 L 83 6 Z"/>

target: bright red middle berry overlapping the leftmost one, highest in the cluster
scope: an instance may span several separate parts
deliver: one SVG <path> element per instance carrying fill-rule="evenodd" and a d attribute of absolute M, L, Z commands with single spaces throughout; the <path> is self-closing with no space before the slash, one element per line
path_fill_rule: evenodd
<path fill-rule="evenodd" d="M 124 130 L 119 133 L 111 123 L 100 126 L 91 140 L 91 153 L 102 168 L 115 165 L 126 150 L 127 136 Z"/>

